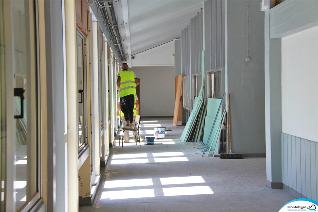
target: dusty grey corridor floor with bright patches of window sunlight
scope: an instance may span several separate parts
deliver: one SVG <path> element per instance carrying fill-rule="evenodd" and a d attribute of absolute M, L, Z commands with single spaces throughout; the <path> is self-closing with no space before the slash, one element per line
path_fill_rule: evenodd
<path fill-rule="evenodd" d="M 279 211 L 296 199 L 265 185 L 265 158 L 202 157 L 198 143 L 177 139 L 183 127 L 172 119 L 143 119 L 141 136 L 156 124 L 172 131 L 154 145 L 117 140 L 93 205 L 79 211 Z"/>

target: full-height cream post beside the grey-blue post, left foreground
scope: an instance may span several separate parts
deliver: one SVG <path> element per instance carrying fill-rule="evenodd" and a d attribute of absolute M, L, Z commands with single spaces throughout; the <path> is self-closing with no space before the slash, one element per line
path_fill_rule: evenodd
<path fill-rule="evenodd" d="M 68 211 L 78 211 L 78 126 L 75 2 L 65 1 Z"/>

